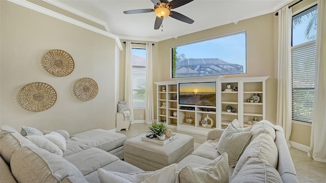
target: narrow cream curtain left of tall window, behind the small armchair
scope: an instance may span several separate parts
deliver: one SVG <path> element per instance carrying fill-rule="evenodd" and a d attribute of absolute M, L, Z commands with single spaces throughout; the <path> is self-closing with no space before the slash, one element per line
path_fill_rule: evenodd
<path fill-rule="evenodd" d="M 132 80 L 131 80 L 131 41 L 126 43 L 126 65 L 125 65 L 125 81 L 124 81 L 124 99 L 129 104 L 130 124 L 133 124 L 133 107 L 132 107 Z"/>

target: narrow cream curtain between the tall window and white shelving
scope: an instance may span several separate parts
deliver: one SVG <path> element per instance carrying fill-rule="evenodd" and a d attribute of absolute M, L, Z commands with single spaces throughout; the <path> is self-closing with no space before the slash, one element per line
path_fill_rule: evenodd
<path fill-rule="evenodd" d="M 145 122 L 152 124 L 154 122 L 154 105 L 153 105 L 153 57 L 152 43 L 146 44 L 146 108 Z"/>

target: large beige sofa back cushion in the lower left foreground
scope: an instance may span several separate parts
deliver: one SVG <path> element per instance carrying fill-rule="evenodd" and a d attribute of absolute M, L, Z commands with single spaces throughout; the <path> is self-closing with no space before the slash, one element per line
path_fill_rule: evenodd
<path fill-rule="evenodd" d="M 67 160 L 39 147 L 21 147 L 11 158 L 11 172 L 18 182 L 60 182 L 66 177 L 85 179 Z"/>

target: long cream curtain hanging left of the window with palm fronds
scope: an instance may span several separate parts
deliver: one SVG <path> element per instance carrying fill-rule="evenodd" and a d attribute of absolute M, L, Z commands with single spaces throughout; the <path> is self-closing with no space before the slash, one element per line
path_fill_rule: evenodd
<path fill-rule="evenodd" d="M 292 8 L 279 10 L 277 124 L 282 126 L 287 145 L 291 135 L 291 25 Z"/>

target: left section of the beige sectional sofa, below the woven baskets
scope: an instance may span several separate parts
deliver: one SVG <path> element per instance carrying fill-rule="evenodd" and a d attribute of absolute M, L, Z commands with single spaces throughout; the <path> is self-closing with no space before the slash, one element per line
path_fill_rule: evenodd
<path fill-rule="evenodd" d="M 1 126 L 0 182 L 100 182 L 98 168 L 122 173 L 143 171 L 118 158 L 123 158 L 125 135 L 103 129 L 71 137 L 65 130 L 57 132 L 67 138 L 66 150 L 61 154 L 49 149 L 48 144 L 45 147 L 44 142 L 48 141 L 36 143 L 45 150 L 29 140 L 35 140 L 33 137 L 44 140 L 41 134 L 24 132 L 24 137 L 10 126 Z"/>

